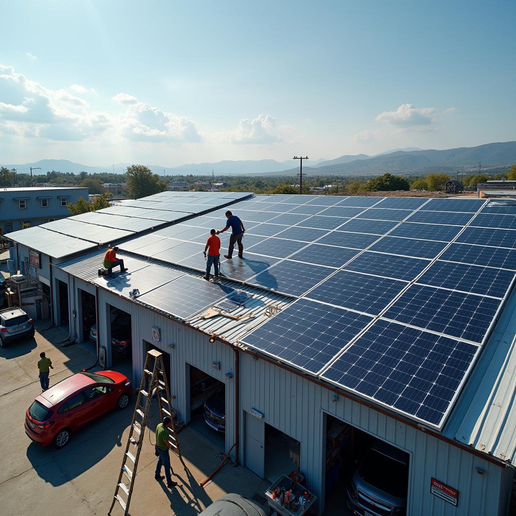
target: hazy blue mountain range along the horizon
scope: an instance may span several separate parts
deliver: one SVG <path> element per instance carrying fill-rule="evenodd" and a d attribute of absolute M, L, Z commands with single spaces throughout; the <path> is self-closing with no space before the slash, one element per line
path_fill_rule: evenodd
<path fill-rule="evenodd" d="M 445 150 L 422 150 L 418 148 L 394 149 L 374 156 L 366 154 L 343 155 L 335 159 L 316 159 L 303 164 L 303 173 L 307 175 L 347 175 L 361 176 L 378 173 L 428 173 L 475 170 L 481 162 L 482 168 L 494 168 L 516 163 L 516 141 L 486 143 L 478 147 L 460 147 Z M 310 163 L 310 166 L 308 166 Z M 162 175 L 208 175 L 212 171 L 217 175 L 260 174 L 293 176 L 298 173 L 298 162 L 293 160 L 278 162 L 273 159 L 259 160 L 223 160 L 217 163 L 192 163 L 176 167 L 148 165 L 156 174 Z M 40 159 L 35 163 L 9 164 L 5 167 L 15 168 L 19 173 L 28 173 L 29 167 L 40 167 L 39 173 L 47 171 L 60 172 L 115 172 L 123 173 L 130 163 L 117 163 L 107 167 L 92 167 L 73 163 L 67 159 Z M 36 172 L 34 172 L 36 174 Z"/>

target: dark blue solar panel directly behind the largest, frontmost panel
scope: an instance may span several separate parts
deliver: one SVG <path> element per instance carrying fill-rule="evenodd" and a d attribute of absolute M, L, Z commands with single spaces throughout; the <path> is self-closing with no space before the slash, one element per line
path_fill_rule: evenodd
<path fill-rule="evenodd" d="M 499 305 L 498 299 L 412 285 L 384 317 L 481 343 Z"/>

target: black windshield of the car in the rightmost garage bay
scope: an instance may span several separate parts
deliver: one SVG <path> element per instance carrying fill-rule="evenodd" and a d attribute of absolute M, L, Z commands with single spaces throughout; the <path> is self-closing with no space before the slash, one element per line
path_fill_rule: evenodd
<path fill-rule="evenodd" d="M 378 451 L 369 450 L 359 467 L 358 474 L 370 485 L 403 498 L 407 495 L 408 467 Z"/>

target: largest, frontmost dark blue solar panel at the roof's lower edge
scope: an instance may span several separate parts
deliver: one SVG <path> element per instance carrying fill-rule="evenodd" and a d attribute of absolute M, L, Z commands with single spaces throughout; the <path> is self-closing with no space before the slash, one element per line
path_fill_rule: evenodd
<path fill-rule="evenodd" d="M 478 350 L 380 319 L 322 378 L 440 428 Z"/>

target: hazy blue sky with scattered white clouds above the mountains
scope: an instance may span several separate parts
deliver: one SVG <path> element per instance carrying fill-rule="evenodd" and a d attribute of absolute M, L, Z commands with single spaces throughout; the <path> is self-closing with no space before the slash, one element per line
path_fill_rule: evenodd
<path fill-rule="evenodd" d="M 516 2 L 1 2 L 0 163 L 516 140 Z"/>

